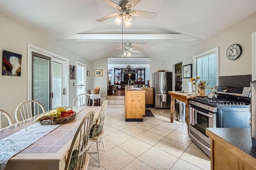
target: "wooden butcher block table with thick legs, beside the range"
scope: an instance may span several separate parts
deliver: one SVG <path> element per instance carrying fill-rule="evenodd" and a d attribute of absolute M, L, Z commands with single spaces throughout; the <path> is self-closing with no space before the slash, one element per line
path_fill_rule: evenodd
<path fill-rule="evenodd" d="M 189 99 L 192 99 L 194 97 L 198 97 L 198 95 L 196 94 L 192 94 L 192 93 L 181 93 L 181 92 L 171 92 L 169 91 L 168 94 L 171 95 L 171 123 L 173 123 L 173 115 L 174 115 L 174 100 L 179 100 L 181 102 L 184 102 L 186 104 L 186 123 L 188 125 L 189 120 L 188 120 L 188 115 L 189 115 L 189 107 L 188 107 L 188 101 Z M 188 95 L 189 94 L 189 95 Z M 190 96 L 190 94 L 192 94 Z"/>

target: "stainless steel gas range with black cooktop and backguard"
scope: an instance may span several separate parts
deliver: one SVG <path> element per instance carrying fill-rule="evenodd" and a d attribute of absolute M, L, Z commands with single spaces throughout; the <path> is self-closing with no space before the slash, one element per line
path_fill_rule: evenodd
<path fill-rule="evenodd" d="M 250 128 L 250 87 L 215 86 L 218 98 L 189 100 L 189 137 L 210 156 L 207 127 Z"/>

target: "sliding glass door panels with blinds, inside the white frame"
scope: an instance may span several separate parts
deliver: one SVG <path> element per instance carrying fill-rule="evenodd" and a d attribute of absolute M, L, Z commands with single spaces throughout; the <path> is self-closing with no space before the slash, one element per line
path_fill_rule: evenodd
<path fill-rule="evenodd" d="M 32 100 L 43 104 L 46 110 L 64 106 L 64 61 L 32 53 Z"/>

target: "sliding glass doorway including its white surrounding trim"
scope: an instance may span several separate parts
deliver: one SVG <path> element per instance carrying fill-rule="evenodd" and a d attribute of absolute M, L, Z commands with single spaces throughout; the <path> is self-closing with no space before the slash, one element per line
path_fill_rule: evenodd
<path fill-rule="evenodd" d="M 28 44 L 28 100 L 47 110 L 68 106 L 68 59 Z"/>

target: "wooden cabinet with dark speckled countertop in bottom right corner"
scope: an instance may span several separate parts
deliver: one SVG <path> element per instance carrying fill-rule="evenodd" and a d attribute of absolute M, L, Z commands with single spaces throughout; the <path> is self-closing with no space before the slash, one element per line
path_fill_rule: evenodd
<path fill-rule="evenodd" d="M 207 128 L 211 170 L 256 170 L 256 148 L 250 128 Z"/>

